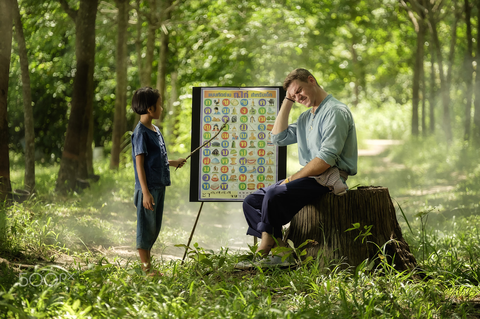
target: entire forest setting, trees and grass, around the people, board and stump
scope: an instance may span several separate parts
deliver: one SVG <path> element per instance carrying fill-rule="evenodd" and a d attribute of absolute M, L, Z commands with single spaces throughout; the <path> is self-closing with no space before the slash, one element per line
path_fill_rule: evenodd
<path fill-rule="evenodd" d="M 471 0 L 0 0 L 2 313 L 478 316 L 479 8 Z M 184 157 L 193 86 L 282 85 L 299 67 L 352 110 L 368 156 L 348 184 L 389 188 L 430 279 L 413 283 L 385 264 L 354 274 L 314 263 L 236 272 L 238 249 L 252 243 L 241 206 L 206 203 L 194 241 L 212 251 L 196 246 L 184 265 L 156 259 L 168 275 L 144 287 L 132 249 L 134 90 L 160 91 L 156 124 L 169 157 Z M 296 104 L 290 121 L 303 110 Z M 299 168 L 293 145 L 288 174 Z M 199 207 L 188 203 L 189 183 L 189 165 L 172 170 L 156 256 L 188 239 Z M 12 189 L 34 195 L 11 202 Z M 22 271 L 44 269 L 19 263 L 52 262 L 75 279 L 19 285 Z"/>

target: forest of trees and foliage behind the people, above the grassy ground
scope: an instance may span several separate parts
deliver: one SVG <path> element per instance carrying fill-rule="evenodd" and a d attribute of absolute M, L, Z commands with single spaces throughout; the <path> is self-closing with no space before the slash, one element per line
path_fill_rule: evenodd
<path fill-rule="evenodd" d="M 297 67 L 358 110 L 363 139 L 480 143 L 478 8 L 468 0 L 31 0 L 19 10 L 7 0 L 5 10 L 8 3 L 15 37 L 1 104 L 7 192 L 7 146 L 25 153 L 27 189 L 35 160 L 60 163 L 56 189 L 73 189 L 94 173 L 91 146 L 104 147 L 118 168 L 124 134 L 138 120 L 130 107 L 138 87 L 161 92 L 158 125 L 170 152 L 186 152 L 192 86 L 281 85 Z M 11 42 L 8 32 L 2 37 Z"/>

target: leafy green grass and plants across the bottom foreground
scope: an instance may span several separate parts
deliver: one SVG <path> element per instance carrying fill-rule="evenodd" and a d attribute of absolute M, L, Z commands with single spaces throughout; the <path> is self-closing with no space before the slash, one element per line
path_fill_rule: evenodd
<path fill-rule="evenodd" d="M 195 247 L 195 255 L 203 250 Z M 209 259 L 214 265 L 202 260 Z M 383 258 L 380 268 L 355 272 L 320 269 L 314 262 L 297 269 L 239 272 L 237 254 L 208 252 L 180 265 L 156 264 L 165 275 L 145 277 L 138 262 L 83 258 L 69 267 L 37 267 L 21 274 L 0 266 L 0 308 L 7 317 L 30 316 L 159 318 L 452 318 L 478 313 L 468 300 L 478 286 L 461 274 L 431 272 L 412 280 Z M 214 261 L 223 261 L 216 266 Z M 444 263 L 448 262 L 446 258 Z M 450 268 L 455 271 L 455 269 Z M 51 280 L 54 273 L 61 281 Z M 65 275 L 61 277 L 61 274 Z M 38 278 L 48 278 L 40 282 Z M 446 275 L 446 276 L 445 276 Z M 33 284 L 25 286 L 25 278 Z"/>

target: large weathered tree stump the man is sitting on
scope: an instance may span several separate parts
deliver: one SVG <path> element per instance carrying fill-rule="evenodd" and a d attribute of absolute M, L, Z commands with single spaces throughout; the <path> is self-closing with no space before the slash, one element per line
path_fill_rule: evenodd
<path fill-rule="evenodd" d="M 346 231 L 355 223 L 360 223 L 359 229 Z M 372 235 L 366 236 L 363 243 L 362 236 L 355 240 L 360 231 L 365 232 L 364 226 L 370 225 L 373 225 Z M 403 239 L 395 208 L 385 187 L 363 186 L 349 190 L 343 196 L 322 195 L 295 215 L 285 239 L 290 239 L 295 247 L 313 239 L 315 242 L 301 248 L 307 249 L 302 258 L 319 256 L 322 267 L 339 261 L 342 261 L 341 269 L 357 267 L 367 258 L 375 259 L 378 265 L 379 247 L 386 242 L 385 257 L 390 264 L 395 258 L 393 263 L 397 271 L 411 271 L 417 267 L 415 257 Z"/>

